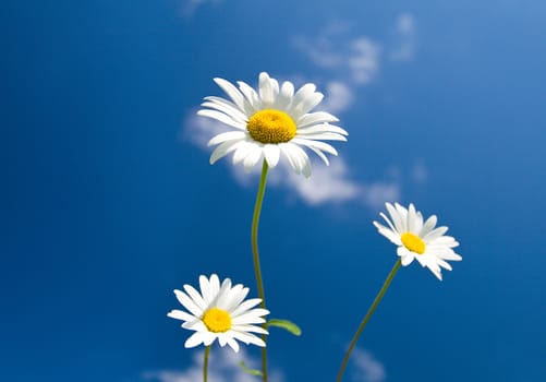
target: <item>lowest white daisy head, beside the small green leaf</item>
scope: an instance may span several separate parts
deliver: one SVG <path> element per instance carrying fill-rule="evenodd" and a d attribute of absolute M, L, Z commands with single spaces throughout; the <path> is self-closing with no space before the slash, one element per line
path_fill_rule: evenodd
<path fill-rule="evenodd" d="M 185 347 L 195 347 L 204 344 L 209 346 L 218 338 L 220 346 L 228 344 L 233 350 L 239 351 L 241 341 L 245 344 L 266 346 L 262 338 L 252 333 L 268 334 L 266 330 L 254 324 L 265 322 L 263 315 L 269 311 L 254 308 L 262 299 L 254 298 L 243 301 L 248 294 L 248 288 L 238 284 L 231 286 L 231 279 L 226 278 L 220 285 L 217 275 L 199 277 L 201 294 L 192 286 L 184 285 L 184 291 L 174 290 L 180 303 L 189 311 L 171 310 L 167 315 L 184 321 L 182 327 L 195 331 L 186 339 Z"/>

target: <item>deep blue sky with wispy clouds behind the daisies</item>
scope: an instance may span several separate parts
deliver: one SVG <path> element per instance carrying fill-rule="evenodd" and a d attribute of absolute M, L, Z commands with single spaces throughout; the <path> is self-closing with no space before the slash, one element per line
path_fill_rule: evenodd
<path fill-rule="evenodd" d="M 221 127 L 195 111 L 221 95 L 213 77 L 256 85 L 262 71 L 316 83 L 350 134 L 307 182 L 271 172 L 268 307 L 304 332 L 271 331 L 277 381 L 335 379 L 397 260 L 372 226 L 385 201 L 437 214 L 463 261 L 441 283 L 416 264 L 399 272 L 347 381 L 546 379 L 546 4 L 8 0 L 0 11 L 2 380 L 196 380 L 201 350 L 166 317 L 172 289 L 218 273 L 256 295 L 257 175 L 208 164 L 204 142 Z M 213 350 L 217 382 L 244 381 L 230 351 Z M 252 365 L 258 351 L 242 356 Z"/>

